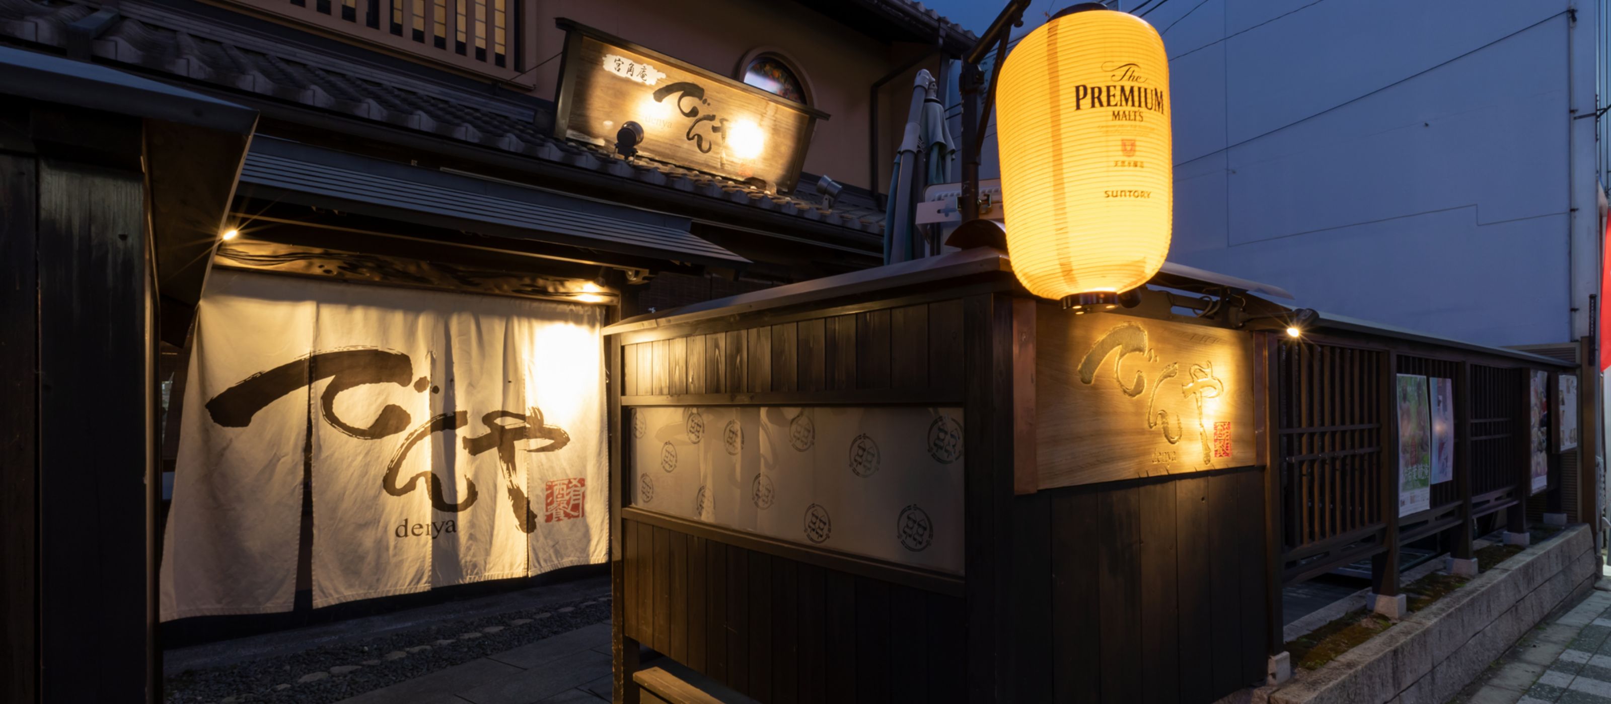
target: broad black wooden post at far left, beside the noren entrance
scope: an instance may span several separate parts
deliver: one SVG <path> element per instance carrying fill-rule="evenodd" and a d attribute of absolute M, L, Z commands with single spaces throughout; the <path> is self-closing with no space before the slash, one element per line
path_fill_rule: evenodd
<path fill-rule="evenodd" d="M 39 694 L 156 701 L 156 326 L 142 132 L 139 121 L 79 119 L 134 162 L 39 162 L 37 643 L 39 659 L 56 664 L 39 670 Z M 63 662 L 98 665 L 85 677 Z"/>

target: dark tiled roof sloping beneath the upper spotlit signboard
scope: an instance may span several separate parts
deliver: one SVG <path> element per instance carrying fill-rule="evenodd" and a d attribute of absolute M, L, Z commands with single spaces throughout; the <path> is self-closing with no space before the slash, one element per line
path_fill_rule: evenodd
<path fill-rule="evenodd" d="M 71 0 L 0 0 L 0 40 L 66 48 L 68 26 L 97 10 Z M 121 18 L 92 43 L 93 56 L 103 61 L 883 235 L 884 215 L 870 203 L 841 199 L 825 209 L 670 164 L 628 162 L 603 148 L 551 137 L 545 122 L 551 124 L 553 116 L 532 103 L 437 84 L 417 72 L 221 26 L 182 10 L 137 0 L 124 0 L 116 10 Z"/>

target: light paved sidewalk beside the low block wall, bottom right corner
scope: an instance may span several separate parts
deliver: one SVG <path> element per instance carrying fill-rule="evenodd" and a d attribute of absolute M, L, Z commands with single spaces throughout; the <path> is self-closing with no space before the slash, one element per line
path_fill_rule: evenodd
<path fill-rule="evenodd" d="M 1608 580 L 1521 638 L 1461 704 L 1611 704 L 1611 591 Z"/>

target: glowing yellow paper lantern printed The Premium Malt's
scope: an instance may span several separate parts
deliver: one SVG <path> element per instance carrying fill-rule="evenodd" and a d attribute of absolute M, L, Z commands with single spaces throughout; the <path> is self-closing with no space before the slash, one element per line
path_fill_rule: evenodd
<path fill-rule="evenodd" d="M 1174 167 L 1163 39 L 1100 5 L 1070 10 L 1007 56 L 996 127 L 1013 272 L 1083 312 L 1163 265 Z"/>

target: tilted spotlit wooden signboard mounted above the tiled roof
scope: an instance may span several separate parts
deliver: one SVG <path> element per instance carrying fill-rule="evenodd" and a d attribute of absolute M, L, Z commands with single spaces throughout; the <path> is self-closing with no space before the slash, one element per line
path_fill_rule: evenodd
<path fill-rule="evenodd" d="M 794 190 L 815 121 L 828 114 L 659 51 L 559 19 L 565 34 L 554 137 L 614 149 L 643 127 L 638 154 Z"/>

